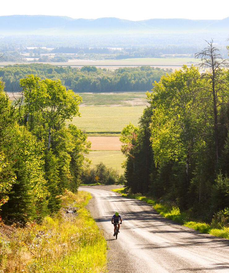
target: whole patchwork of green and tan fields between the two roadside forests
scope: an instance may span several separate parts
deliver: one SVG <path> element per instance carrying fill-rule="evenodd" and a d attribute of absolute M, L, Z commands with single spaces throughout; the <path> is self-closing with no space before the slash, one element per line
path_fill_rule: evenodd
<path fill-rule="evenodd" d="M 92 160 L 91 168 L 103 162 L 108 168 L 123 173 L 121 164 L 125 156 L 119 141 L 121 130 L 130 122 L 138 120 L 148 105 L 145 91 L 112 93 L 79 93 L 81 117 L 74 117 L 72 123 L 88 135 L 91 150 L 87 156 Z"/>

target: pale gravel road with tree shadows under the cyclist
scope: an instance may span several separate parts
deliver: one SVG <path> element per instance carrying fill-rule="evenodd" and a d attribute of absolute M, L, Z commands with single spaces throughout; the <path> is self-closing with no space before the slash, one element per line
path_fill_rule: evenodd
<path fill-rule="evenodd" d="M 116 186 L 118 187 L 118 186 Z M 104 230 L 109 272 L 229 272 L 229 240 L 201 234 L 163 218 L 148 204 L 110 191 L 115 186 L 82 186 L 91 193 L 88 209 Z M 113 237 L 111 217 L 123 224 Z"/>

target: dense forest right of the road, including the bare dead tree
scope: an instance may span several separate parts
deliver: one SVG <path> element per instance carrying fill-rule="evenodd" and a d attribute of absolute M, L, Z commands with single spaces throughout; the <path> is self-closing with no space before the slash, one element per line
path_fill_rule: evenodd
<path fill-rule="evenodd" d="M 127 125 L 120 140 L 129 190 L 209 222 L 228 216 L 229 72 L 212 42 L 196 57 L 205 72 L 183 66 L 154 82 L 139 126 Z"/>

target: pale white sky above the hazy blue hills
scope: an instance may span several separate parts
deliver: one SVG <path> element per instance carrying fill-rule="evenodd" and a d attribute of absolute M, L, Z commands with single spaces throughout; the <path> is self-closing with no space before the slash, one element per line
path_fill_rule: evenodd
<path fill-rule="evenodd" d="M 229 0 L 2 0 L 1 15 L 61 15 L 75 19 L 117 17 L 133 21 L 224 19 L 229 17 Z"/>

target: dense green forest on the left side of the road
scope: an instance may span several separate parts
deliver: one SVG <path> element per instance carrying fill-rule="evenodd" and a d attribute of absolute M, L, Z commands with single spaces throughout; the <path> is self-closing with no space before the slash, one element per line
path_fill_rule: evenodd
<path fill-rule="evenodd" d="M 77 190 L 90 143 L 64 123 L 80 115 L 80 96 L 32 74 L 19 84 L 14 107 L 0 81 L 0 215 L 23 224 L 58 211 L 63 191 Z"/>

